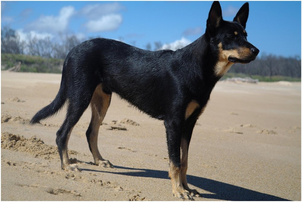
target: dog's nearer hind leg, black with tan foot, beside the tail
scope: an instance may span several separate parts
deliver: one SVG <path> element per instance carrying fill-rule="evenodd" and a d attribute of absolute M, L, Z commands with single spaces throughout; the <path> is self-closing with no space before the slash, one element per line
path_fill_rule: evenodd
<path fill-rule="evenodd" d="M 56 133 L 56 144 L 58 145 L 58 151 L 61 158 L 61 168 L 66 171 L 81 171 L 76 164 L 70 164 L 67 146 L 73 127 L 87 109 L 92 98 L 93 91 L 89 90 L 88 86 L 86 87 L 87 88 L 79 88 L 83 90 L 78 90 L 77 93 L 72 94 L 72 96 L 68 98 L 69 103 L 66 118 Z"/>

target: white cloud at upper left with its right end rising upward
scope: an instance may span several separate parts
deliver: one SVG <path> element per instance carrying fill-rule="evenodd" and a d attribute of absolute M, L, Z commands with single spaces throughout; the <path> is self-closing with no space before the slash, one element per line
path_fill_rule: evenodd
<path fill-rule="evenodd" d="M 27 31 L 58 33 L 65 31 L 68 27 L 69 19 L 75 14 L 73 6 L 61 8 L 58 16 L 41 16 L 37 20 L 28 24 Z"/>

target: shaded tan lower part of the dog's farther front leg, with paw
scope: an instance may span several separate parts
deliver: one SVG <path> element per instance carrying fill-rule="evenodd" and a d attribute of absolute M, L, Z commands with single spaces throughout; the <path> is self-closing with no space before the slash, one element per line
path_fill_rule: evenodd
<path fill-rule="evenodd" d="M 188 142 L 184 138 L 182 138 L 182 142 L 180 145 L 180 158 L 181 158 L 181 171 L 180 171 L 180 177 L 182 180 L 182 185 L 190 192 L 191 196 L 201 197 L 201 195 L 194 189 L 190 189 L 188 187 L 187 182 L 187 169 L 188 169 Z"/>

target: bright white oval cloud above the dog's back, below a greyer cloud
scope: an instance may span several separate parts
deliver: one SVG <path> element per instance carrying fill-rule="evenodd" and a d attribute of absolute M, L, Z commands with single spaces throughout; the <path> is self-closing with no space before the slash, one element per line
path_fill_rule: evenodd
<path fill-rule="evenodd" d="M 113 31 L 122 23 L 123 18 L 119 14 L 104 15 L 97 20 L 88 21 L 85 25 L 90 32 Z"/>

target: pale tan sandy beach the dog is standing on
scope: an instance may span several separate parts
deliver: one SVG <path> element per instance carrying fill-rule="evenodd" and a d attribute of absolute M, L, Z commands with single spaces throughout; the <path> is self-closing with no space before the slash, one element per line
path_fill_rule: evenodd
<path fill-rule="evenodd" d="M 112 96 L 98 147 L 114 168 L 94 165 L 85 132 L 74 127 L 60 169 L 56 131 L 65 109 L 29 120 L 56 96 L 60 74 L 1 72 L 1 200 L 164 200 L 172 195 L 162 121 Z M 220 81 L 194 128 L 188 183 L 194 200 L 301 200 L 301 83 Z"/>

